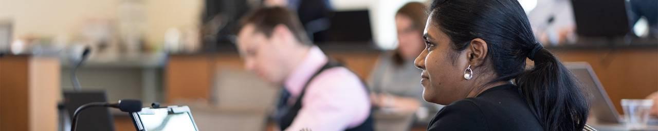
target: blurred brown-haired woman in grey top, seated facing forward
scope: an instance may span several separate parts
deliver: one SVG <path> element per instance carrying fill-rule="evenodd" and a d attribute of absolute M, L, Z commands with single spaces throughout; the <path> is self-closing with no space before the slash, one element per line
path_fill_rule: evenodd
<path fill-rule="evenodd" d="M 380 56 L 368 79 L 372 105 L 382 111 L 393 109 L 395 113 L 414 115 L 421 106 L 432 113 L 438 111 L 436 105 L 422 100 L 422 86 L 416 78 L 420 70 L 413 65 L 413 60 L 423 49 L 422 29 L 427 21 L 425 9 L 422 3 L 411 2 L 395 13 L 398 46 L 393 52 Z"/>

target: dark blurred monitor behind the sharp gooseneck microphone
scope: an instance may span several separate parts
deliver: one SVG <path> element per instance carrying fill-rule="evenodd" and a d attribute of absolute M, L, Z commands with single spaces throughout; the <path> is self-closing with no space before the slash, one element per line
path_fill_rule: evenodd
<path fill-rule="evenodd" d="M 68 111 L 68 118 L 86 103 L 107 102 L 105 91 L 65 91 L 64 107 Z M 92 107 L 86 109 L 78 116 L 77 130 L 113 131 L 114 119 L 106 107 Z"/>

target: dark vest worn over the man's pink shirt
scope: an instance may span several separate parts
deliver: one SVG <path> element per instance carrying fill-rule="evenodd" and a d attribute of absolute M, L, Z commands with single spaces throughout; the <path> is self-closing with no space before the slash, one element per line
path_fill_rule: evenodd
<path fill-rule="evenodd" d="M 290 124 L 292 124 L 295 117 L 297 117 L 297 113 L 299 112 L 299 109 L 301 109 L 301 106 L 302 106 L 301 105 L 301 100 L 304 98 L 304 95 L 306 94 L 306 89 L 309 87 L 309 83 L 311 81 L 313 81 L 313 79 L 315 79 L 315 77 L 318 74 L 322 73 L 322 71 L 324 71 L 326 69 L 330 69 L 332 67 L 342 67 L 342 65 L 340 65 L 336 62 L 331 62 L 331 61 L 327 62 L 327 64 L 324 64 L 324 66 L 322 66 L 322 68 L 320 70 L 316 71 L 315 74 L 313 74 L 313 76 L 311 77 L 311 79 L 309 79 L 309 81 L 307 81 L 306 84 L 304 84 L 304 87 L 301 90 L 301 94 L 299 94 L 299 97 L 297 97 L 297 100 L 295 100 L 295 105 L 293 105 L 292 107 L 288 107 L 288 109 L 285 109 L 286 111 L 284 111 L 279 116 L 278 121 L 279 121 L 279 127 L 281 128 L 281 130 L 285 130 L 286 128 L 288 128 L 288 126 L 290 126 Z M 281 99 L 281 100 L 284 101 L 284 103 L 285 103 L 285 101 L 287 101 L 287 99 L 285 99 L 285 98 Z M 286 105 L 284 104 L 284 106 L 286 106 Z M 282 109 L 282 108 L 280 108 L 280 109 Z M 371 130 L 374 130 L 373 125 L 374 124 L 373 124 L 373 120 L 372 120 L 372 111 L 370 111 L 370 115 L 368 115 L 368 118 L 366 119 L 366 121 L 363 121 L 363 123 L 359 124 L 359 126 L 355 126 L 353 128 L 348 128 L 347 131 L 371 131 Z M 311 130 L 313 130 L 313 129 L 311 129 Z"/>

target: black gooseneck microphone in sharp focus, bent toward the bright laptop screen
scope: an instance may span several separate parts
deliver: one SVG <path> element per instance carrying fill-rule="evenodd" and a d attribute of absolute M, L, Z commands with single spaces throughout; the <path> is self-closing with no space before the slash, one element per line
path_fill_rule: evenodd
<path fill-rule="evenodd" d="M 84 105 L 80 105 L 78 109 L 73 113 L 73 121 L 71 122 L 71 131 L 76 130 L 76 124 L 78 124 L 78 115 L 84 109 L 89 107 L 114 107 L 123 112 L 134 113 L 141 111 L 141 101 L 139 100 L 119 100 L 118 103 L 107 103 L 107 102 L 91 102 Z"/>

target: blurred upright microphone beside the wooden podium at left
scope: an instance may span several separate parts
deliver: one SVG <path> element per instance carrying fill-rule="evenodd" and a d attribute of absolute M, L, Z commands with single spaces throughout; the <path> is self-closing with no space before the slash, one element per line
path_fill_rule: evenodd
<path fill-rule="evenodd" d="M 78 58 L 78 52 L 77 50 L 82 50 L 82 53 L 80 53 L 80 58 Z M 84 46 L 77 46 L 77 47 L 72 47 L 71 49 L 71 56 L 70 56 L 70 61 L 73 65 L 73 69 L 71 69 L 71 83 L 73 84 L 73 90 L 75 91 L 80 91 L 82 90 L 80 88 L 80 82 L 78 81 L 78 76 L 76 76 L 76 71 L 78 71 L 78 67 L 84 63 L 85 60 L 87 60 L 87 56 L 89 56 L 89 53 L 91 50 L 89 50 L 89 47 Z"/>

